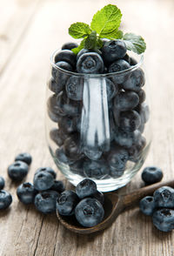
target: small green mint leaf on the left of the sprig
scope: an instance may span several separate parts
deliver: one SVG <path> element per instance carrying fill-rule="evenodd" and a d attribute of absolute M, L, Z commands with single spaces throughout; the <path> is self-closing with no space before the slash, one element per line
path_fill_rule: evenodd
<path fill-rule="evenodd" d="M 71 24 L 69 28 L 70 36 L 76 39 L 84 38 L 90 35 L 90 33 L 91 33 L 90 26 L 84 23 Z"/>

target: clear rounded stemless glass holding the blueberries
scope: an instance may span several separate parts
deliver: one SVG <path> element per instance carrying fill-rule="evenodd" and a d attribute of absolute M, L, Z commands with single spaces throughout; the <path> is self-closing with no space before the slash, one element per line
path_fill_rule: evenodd
<path fill-rule="evenodd" d="M 77 185 L 84 178 L 109 192 L 129 183 L 151 145 L 144 56 L 107 74 L 64 71 L 50 57 L 46 137 L 58 169 Z"/>

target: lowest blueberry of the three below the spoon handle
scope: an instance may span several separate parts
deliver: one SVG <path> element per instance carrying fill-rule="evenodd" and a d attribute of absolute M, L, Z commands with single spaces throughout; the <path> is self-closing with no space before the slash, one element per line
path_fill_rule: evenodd
<path fill-rule="evenodd" d="M 160 209 L 153 213 L 153 225 L 158 230 L 170 232 L 174 228 L 174 210 Z"/>

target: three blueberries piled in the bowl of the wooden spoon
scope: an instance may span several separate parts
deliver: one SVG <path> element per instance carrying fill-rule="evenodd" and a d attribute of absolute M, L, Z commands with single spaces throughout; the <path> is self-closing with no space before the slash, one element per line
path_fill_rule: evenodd
<path fill-rule="evenodd" d="M 104 194 L 97 191 L 96 183 L 84 179 L 76 192 L 64 191 L 57 199 L 57 212 L 63 216 L 75 215 L 81 226 L 96 226 L 104 219 Z"/>

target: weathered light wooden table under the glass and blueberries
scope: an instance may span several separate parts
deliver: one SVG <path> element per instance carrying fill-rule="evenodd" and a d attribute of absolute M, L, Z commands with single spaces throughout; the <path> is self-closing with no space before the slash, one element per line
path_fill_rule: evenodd
<path fill-rule="evenodd" d="M 173 232 L 159 232 L 138 208 L 124 212 L 106 231 L 80 236 L 61 226 L 55 215 L 43 216 L 18 202 L 17 185 L 7 167 L 19 152 L 33 163 L 26 180 L 40 166 L 56 168 L 44 135 L 45 87 L 50 54 L 70 41 L 68 28 L 90 22 L 104 0 L 0 0 L 0 175 L 13 196 L 0 212 L 1 256 L 155 256 L 174 255 Z M 145 66 L 151 84 L 153 143 L 145 165 L 157 165 L 164 180 L 174 174 L 174 2 L 117 0 L 123 28 L 144 36 Z M 64 179 L 58 173 L 58 178 Z M 143 186 L 141 172 L 120 190 Z"/>

